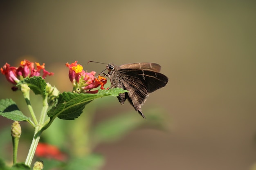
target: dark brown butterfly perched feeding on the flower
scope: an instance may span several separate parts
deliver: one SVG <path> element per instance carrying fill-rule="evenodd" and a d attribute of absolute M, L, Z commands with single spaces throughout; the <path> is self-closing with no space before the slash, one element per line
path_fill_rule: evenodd
<path fill-rule="evenodd" d="M 121 93 L 117 97 L 121 104 L 128 99 L 135 110 L 146 118 L 141 112 L 141 106 L 146 102 L 149 93 L 164 87 L 168 82 L 168 77 L 159 73 L 161 66 L 156 63 L 133 63 L 117 66 L 108 64 L 108 74 L 110 78 L 110 88 L 123 88 L 128 93 Z"/>

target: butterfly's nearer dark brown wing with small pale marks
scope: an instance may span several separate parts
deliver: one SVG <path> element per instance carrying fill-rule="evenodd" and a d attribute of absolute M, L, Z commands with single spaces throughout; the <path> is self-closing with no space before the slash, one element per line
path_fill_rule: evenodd
<path fill-rule="evenodd" d="M 137 69 L 120 69 L 119 73 L 119 79 L 121 79 L 124 89 L 129 91 L 129 93 L 125 94 L 125 98 L 124 94 L 119 96 L 123 97 L 121 103 L 124 103 L 124 100 L 127 98 L 135 110 L 145 118 L 141 112 L 141 106 L 146 102 L 149 93 L 167 84 L 168 77 L 161 73 Z"/>

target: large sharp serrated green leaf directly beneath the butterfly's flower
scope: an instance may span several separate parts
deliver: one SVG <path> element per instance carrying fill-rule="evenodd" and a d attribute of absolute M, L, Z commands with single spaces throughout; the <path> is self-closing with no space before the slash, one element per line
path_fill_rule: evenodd
<path fill-rule="evenodd" d="M 60 119 L 74 120 L 81 115 L 85 105 L 92 100 L 105 96 L 118 96 L 120 93 L 125 92 L 127 91 L 122 88 L 99 90 L 96 94 L 64 92 L 58 96 L 56 105 L 47 114 L 51 119 L 58 117 Z"/>

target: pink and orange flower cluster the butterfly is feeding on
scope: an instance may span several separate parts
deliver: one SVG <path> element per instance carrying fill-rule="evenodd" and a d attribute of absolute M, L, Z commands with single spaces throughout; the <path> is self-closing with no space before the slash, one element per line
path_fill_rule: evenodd
<path fill-rule="evenodd" d="M 73 92 L 75 93 L 98 93 L 98 90 L 91 91 L 93 88 L 101 86 L 101 89 L 104 89 L 104 85 L 107 82 L 105 77 L 98 75 L 95 77 L 96 72 L 91 71 L 90 73 L 83 70 L 83 66 L 77 64 L 77 61 L 74 63 L 68 64 L 66 66 L 69 70 L 70 82 L 73 84 Z"/>

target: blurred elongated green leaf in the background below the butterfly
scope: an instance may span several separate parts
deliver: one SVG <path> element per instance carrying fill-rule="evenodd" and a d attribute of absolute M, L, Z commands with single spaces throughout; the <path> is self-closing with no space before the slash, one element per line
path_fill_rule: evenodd
<path fill-rule="evenodd" d="M 165 122 L 161 112 L 160 109 L 145 111 L 146 119 L 143 119 L 136 112 L 121 113 L 115 117 L 105 119 L 92 128 L 92 144 L 95 147 L 100 143 L 116 141 L 142 125 L 154 126 L 162 130 Z"/>

